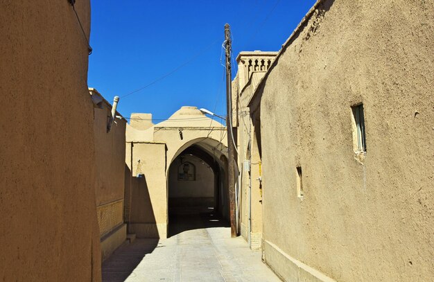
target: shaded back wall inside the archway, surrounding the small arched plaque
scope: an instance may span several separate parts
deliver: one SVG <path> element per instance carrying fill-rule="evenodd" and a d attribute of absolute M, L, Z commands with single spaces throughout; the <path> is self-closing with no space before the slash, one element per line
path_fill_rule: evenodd
<path fill-rule="evenodd" d="M 212 168 L 195 156 L 186 155 L 183 163 L 188 161 L 196 167 L 194 181 L 178 180 L 178 167 L 182 166 L 180 158 L 171 164 L 168 173 L 168 197 L 214 197 L 214 173 Z"/>

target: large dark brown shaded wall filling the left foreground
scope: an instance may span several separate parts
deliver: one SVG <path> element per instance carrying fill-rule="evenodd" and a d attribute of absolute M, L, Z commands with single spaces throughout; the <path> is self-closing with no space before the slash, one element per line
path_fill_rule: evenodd
<path fill-rule="evenodd" d="M 0 1 L 0 22 L 0 280 L 101 281 L 82 30 L 68 1 Z"/>

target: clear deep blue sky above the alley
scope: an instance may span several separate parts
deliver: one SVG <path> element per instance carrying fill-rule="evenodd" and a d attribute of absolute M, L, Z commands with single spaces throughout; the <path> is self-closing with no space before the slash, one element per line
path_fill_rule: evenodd
<path fill-rule="evenodd" d="M 225 23 L 232 30 L 234 62 L 241 51 L 279 51 L 315 0 L 91 2 L 88 84 L 110 102 L 195 58 L 119 101 L 118 111 L 127 118 L 141 112 L 166 119 L 183 105 L 225 114 Z"/>

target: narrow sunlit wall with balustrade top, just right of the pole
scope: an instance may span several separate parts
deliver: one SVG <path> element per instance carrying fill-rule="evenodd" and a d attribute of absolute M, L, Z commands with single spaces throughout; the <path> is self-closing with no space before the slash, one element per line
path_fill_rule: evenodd
<path fill-rule="evenodd" d="M 235 96 L 234 103 L 236 103 L 238 119 L 236 135 L 239 152 L 237 161 L 241 172 L 241 236 L 250 242 L 252 249 L 261 247 L 262 191 L 258 180 L 261 158 L 254 138 L 254 127 L 250 118 L 248 103 L 259 81 L 266 73 L 267 62 L 272 62 L 275 55 L 277 52 L 241 52 L 237 57 L 238 73 L 232 81 L 232 90 L 234 91 L 232 94 Z M 250 148 L 249 143 L 252 144 Z M 250 162 L 250 168 L 245 166 L 246 161 Z"/>

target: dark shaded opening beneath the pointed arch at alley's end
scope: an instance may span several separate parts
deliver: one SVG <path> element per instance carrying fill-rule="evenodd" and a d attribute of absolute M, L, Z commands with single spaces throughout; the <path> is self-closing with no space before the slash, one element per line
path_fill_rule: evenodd
<path fill-rule="evenodd" d="M 225 157 L 193 144 L 168 169 L 168 236 L 189 229 L 227 226 Z"/>

